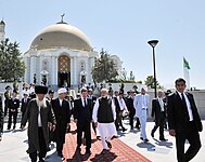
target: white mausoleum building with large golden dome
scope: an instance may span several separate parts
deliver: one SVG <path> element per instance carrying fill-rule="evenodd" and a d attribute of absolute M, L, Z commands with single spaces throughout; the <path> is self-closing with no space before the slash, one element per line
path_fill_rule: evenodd
<path fill-rule="evenodd" d="M 88 37 L 62 19 L 42 29 L 23 55 L 26 65 L 24 81 L 34 83 L 36 80 L 36 84 L 44 82 L 52 89 L 75 89 L 93 83 L 91 68 L 98 55 Z M 121 66 L 117 56 L 113 59 L 118 60 L 117 66 Z"/>

